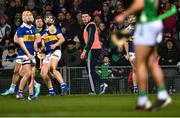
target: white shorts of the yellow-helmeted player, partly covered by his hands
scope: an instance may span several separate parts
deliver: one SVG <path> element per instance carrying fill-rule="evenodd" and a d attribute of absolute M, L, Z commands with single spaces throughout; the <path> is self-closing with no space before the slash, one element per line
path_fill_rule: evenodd
<path fill-rule="evenodd" d="M 19 64 L 36 64 L 36 59 L 34 58 L 33 60 L 30 60 L 29 57 L 27 55 L 22 55 L 22 56 L 18 56 L 16 59 L 16 63 Z"/>

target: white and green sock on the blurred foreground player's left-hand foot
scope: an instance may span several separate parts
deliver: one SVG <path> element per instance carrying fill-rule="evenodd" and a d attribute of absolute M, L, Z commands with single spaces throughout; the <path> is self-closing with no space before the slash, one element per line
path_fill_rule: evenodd
<path fill-rule="evenodd" d="M 145 105 L 146 101 L 148 100 L 147 94 L 145 91 L 140 91 L 138 100 L 137 100 L 137 105 L 138 106 L 143 106 Z"/>

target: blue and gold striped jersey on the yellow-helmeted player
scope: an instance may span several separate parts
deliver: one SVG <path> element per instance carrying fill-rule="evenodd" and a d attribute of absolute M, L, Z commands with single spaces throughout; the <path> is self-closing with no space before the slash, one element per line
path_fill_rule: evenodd
<path fill-rule="evenodd" d="M 31 25 L 28 26 L 27 24 L 23 23 L 17 29 L 17 36 L 18 38 L 23 38 L 24 44 L 30 54 L 34 55 L 34 41 L 35 41 L 35 26 Z M 23 49 L 19 46 L 18 47 L 18 55 L 26 55 Z"/>

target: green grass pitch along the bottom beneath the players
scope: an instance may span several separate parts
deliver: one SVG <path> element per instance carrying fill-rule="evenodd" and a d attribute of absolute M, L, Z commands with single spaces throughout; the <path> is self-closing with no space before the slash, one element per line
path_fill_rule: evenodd
<path fill-rule="evenodd" d="M 19 101 L 0 96 L 0 116 L 180 116 L 180 94 L 158 112 L 135 111 L 136 95 L 40 96 L 37 101 Z M 155 95 L 150 95 L 155 100 Z"/>

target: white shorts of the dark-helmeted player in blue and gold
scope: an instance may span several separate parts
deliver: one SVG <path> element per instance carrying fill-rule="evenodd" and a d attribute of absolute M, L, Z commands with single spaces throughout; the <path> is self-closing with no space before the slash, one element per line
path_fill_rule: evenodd
<path fill-rule="evenodd" d="M 53 53 L 49 53 L 46 55 L 46 57 L 43 59 L 43 63 L 49 63 L 50 59 L 57 59 L 58 61 L 61 59 L 61 50 L 57 49 Z"/>

